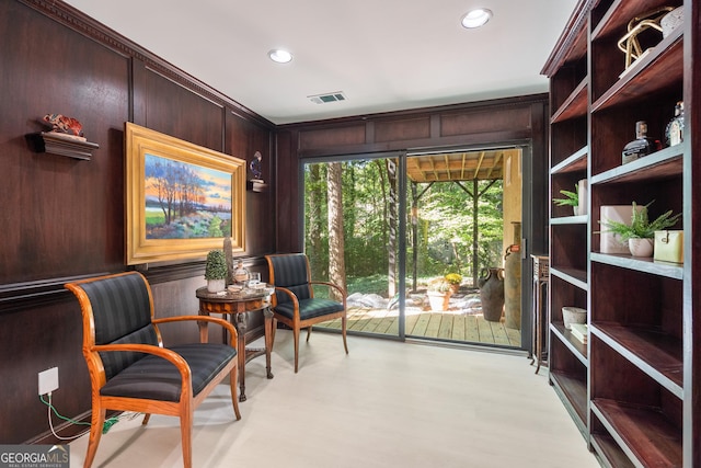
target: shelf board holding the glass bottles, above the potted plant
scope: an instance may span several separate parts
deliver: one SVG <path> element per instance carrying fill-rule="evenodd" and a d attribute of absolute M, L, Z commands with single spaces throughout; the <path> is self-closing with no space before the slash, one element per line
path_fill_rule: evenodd
<path fill-rule="evenodd" d="M 628 164 L 591 175 L 590 185 L 652 181 L 681 176 L 683 172 L 682 145 L 671 146 L 653 152 Z"/>

